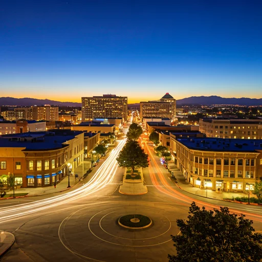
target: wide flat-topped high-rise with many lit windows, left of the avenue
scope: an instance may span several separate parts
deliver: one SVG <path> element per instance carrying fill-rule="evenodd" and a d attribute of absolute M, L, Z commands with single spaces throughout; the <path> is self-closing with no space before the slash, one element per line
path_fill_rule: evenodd
<path fill-rule="evenodd" d="M 121 117 L 127 121 L 127 97 L 116 95 L 82 97 L 82 121 L 109 117 Z"/>

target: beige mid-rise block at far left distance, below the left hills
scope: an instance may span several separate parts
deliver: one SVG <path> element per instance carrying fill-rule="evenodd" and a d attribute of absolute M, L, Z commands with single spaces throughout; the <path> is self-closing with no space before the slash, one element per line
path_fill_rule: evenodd
<path fill-rule="evenodd" d="M 32 106 L 33 120 L 58 121 L 58 106 Z"/>

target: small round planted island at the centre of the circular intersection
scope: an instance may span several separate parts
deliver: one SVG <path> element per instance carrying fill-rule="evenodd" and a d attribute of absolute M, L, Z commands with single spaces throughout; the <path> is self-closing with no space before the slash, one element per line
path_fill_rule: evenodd
<path fill-rule="evenodd" d="M 150 227 L 152 225 L 152 220 L 145 215 L 130 214 L 121 216 L 118 220 L 118 224 L 128 229 L 143 229 Z"/>

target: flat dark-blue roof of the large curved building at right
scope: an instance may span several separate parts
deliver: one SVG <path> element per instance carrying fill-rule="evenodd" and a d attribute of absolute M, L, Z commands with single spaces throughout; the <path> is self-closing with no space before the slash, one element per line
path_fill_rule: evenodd
<path fill-rule="evenodd" d="M 187 148 L 203 151 L 255 152 L 262 150 L 262 140 L 226 138 L 177 138 Z"/>

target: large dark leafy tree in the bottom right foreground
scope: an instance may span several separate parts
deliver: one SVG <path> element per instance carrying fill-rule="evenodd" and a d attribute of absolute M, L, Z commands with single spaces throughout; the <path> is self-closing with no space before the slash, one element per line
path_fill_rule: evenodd
<path fill-rule="evenodd" d="M 181 234 L 171 235 L 177 255 L 168 255 L 169 262 L 260 261 L 262 234 L 254 233 L 253 221 L 244 217 L 230 213 L 227 207 L 206 210 L 193 202 L 188 220 L 177 220 Z"/>

